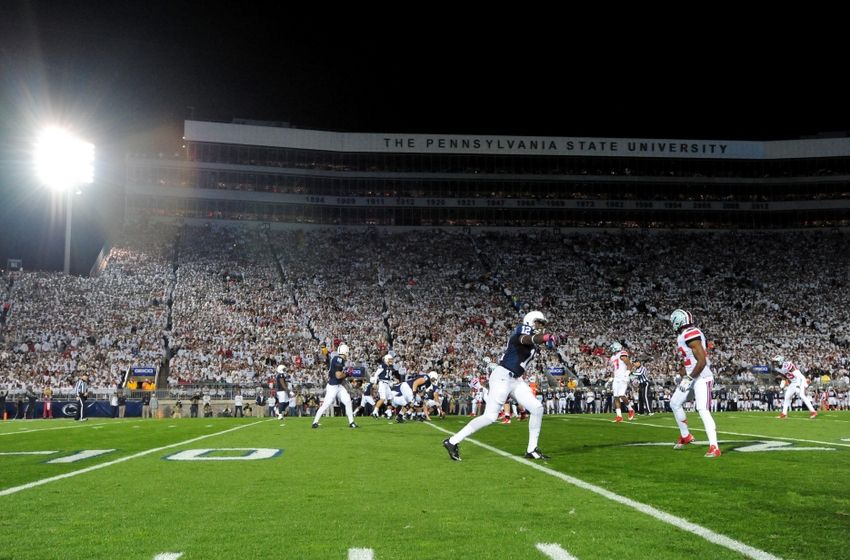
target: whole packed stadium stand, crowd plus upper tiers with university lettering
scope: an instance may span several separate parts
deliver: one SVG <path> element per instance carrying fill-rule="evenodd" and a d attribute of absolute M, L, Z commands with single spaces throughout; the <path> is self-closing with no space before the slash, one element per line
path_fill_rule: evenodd
<path fill-rule="evenodd" d="M 128 158 L 126 226 L 91 277 L 4 274 L 0 388 L 69 394 L 88 371 L 108 395 L 154 367 L 164 397 L 253 397 L 284 364 L 314 396 L 345 341 L 366 371 L 392 351 L 461 399 L 540 309 L 565 343 L 537 371 L 604 392 L 618 340 L 663 395 L 678 367 L 668 317 L 684 307 L 720 388 L 773 386 L 782 353 L 847 399 L 850 139 L 187 121 L 185 142 Z"/>

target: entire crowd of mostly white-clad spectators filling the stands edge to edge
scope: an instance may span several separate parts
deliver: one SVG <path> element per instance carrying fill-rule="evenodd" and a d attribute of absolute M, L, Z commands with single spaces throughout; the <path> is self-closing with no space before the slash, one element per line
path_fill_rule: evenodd
<path fill-rule="evenodd" d="M 719 384 L 772 384 L 761 372 L 777 353 L 845 383 L 847 246 L 832 230 L 135 227 L 97 277 L 4 274 L 0 388 L 49 383 L 68 394 L 86 371 L 93 391 L 108 393 L 134 365 L 157 367 L 175 396 L 242 387 L 253 398 L 283 364 L 307 400 L 345 341 L 367 372 L 391 351 L 402 370 L 437 370 L 462 392 L 539 309 L 565 342 L 539 354 L 537 371 L 599 386 L 616 340 L 660 390 L 679 365 L 668 321 L 677 307 L 706 332 Z"/>

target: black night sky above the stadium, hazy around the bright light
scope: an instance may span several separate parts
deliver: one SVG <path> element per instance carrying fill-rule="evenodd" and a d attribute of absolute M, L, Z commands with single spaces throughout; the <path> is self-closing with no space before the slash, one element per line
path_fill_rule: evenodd
<path fill-rule="evenodd" d="M 123 154 L 174 151 L 191 116 L 377 133 L 769 140 L 850 130 L 845 33 L 830 33 L 829 14 L 811 34 L 799 14 L 767 26 L 676 13 L 671 25 L 611 5 L 356 9 L 0 2 L 0 267 L 21 256 L 28 268 L 61 268 L 63 226 L 28 169 L 45 121 L 98 148 L 97 182 L 81 195 L 90 202 L 75 206 L 78 272 L 120 205 Z"/>

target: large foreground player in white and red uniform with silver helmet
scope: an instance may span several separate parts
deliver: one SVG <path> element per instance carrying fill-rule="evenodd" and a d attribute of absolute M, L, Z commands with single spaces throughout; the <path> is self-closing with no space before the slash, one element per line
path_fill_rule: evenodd
<path fill-rule="evenodd" d="M 714 386 L 714 374 L 711 371 L 711 362 L 706 354 L 705 335 L 694 326 L 693 316 L 683 310 L 677 309 L 670 314 L 670 322 L 676 331 L 676 351 L 682 358 L 682 381 L 670 398 L 670 408 L 676 418 L 681 437 L 676 442 L 674 449 L 682 449 L 694 441 L 694 436 L 688 430 L 688 420 L 682 405 L 688 400 L 693 391 L 694 407 L 702 418 L 705 433 L 708 436 L 708 452 L 706 457 L 720 457 L 720 448 L 717 446 L 717 426 L 711 417 L 711 389 Z"/>

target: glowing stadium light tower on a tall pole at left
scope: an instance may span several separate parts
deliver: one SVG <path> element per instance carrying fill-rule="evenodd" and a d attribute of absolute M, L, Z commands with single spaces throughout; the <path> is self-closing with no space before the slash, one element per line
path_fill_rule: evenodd
<path fill-rule="evenodd" d="M 38 179 L 55 192 L 65 192 L 65 274 L 71 272 L 71 202 L 75 187 L 94 180 L 94 144 L 67 130 L 44 129 L 33 156 Z"/>

